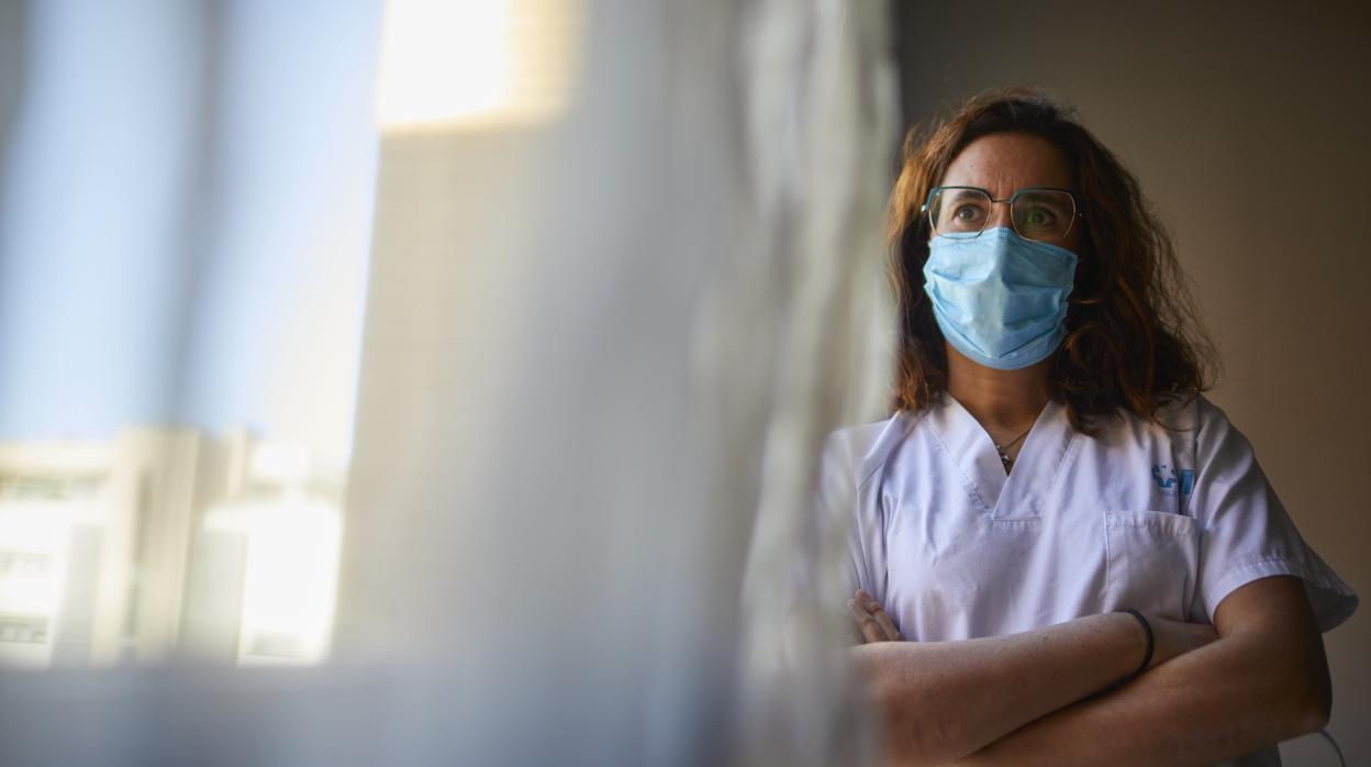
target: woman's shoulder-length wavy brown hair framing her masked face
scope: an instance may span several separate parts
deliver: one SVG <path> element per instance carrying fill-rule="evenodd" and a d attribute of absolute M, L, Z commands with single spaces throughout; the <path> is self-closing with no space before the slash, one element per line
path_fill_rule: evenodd
<path fill-rule="evenodd" d="M 1052 398 L 1067 406 L 1072 427 L 1094 435 L 1120 408 L 1160 423 L 1157 410 L 1168 399 L 1208 390 L 1213 344 L 1138 180 L 1072 113 L 1010 88 L 980 93 L 905 139 L 887 228 L 899 321 L 891 406 L 920 410 L 947 387 L 943 336 L 923 290 L 930 226 L 919 209 L 967 145 L 997 133 L 1039 136 L 1057 147 L 1080 200 L 1082 252 L 1067 338 L 1050 370 Z"/>

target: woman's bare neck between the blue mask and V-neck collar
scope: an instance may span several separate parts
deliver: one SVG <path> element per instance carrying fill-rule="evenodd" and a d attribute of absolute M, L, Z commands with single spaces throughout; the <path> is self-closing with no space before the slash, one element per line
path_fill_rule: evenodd
<path fill-rule="evenodd" d="M 1052 357 L 1019 370 L 997 370 L 972 362 L 947 346 L 947 394 L 954 397 L 994 438 L 1032 425 L 1047 405 Z"/>

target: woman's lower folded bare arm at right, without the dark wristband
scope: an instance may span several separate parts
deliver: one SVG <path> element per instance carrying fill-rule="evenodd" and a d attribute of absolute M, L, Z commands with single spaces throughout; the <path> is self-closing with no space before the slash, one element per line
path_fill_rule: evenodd
<path fill-rule="evenodd" d="M 1216 642 L 956 764 L 1212 764 L 1327 723 L 1328 664 L 1300 579 L 1238 589 L 1215 611 L 1215 627 Z"/>

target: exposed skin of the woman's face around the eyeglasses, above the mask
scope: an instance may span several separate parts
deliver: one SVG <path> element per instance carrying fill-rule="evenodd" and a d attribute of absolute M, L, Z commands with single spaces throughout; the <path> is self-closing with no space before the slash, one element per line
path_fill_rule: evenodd
<path fill-rule="evenodd" d="M 1024 133 L 982 136 L 953 158 L 941 187 L 980 187 L 997 200 L 1027 187 L 1056 187 L 1075 192 L 1071 163 L 1046 139 Z M 1079 198 L 1078 198 L 1079 203 Z M 987 228 L 1012 229 L 1009 206 L 995 204 Z M 1080 255 L 1080 222 L 1052 244 Z"/>

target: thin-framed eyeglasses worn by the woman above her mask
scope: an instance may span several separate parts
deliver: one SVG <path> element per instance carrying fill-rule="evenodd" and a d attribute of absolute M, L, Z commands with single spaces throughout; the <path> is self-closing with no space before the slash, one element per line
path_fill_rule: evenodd
<path fill-rule="evenodd" d="M 1076 222 L 1076 195 L 1068 189 L 1030 187 L 1002 200 L 980 187 L 934 187 L 920 209 L 934 235 L 975 237 L 986 231 L 994 203 L 1009 203 L 1009 221 L 1026 240 L 1057 241 Z"/>

